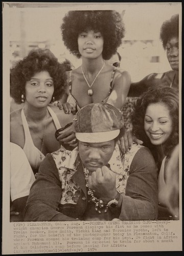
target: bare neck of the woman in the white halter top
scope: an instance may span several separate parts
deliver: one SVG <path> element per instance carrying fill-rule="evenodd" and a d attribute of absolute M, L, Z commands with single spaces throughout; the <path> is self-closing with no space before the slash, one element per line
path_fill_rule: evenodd
<path fill-rule="evenodd" d="M 44 108 L 34 108 L 25 102 L 24 112 L 27 119 L 31 121 L 40 121 L 47 115 L 47 106 Z"/>

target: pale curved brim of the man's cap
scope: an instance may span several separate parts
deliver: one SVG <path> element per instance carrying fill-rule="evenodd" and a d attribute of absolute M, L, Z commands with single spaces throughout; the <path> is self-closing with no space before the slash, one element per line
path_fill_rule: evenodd
<path fill-rule="evenodd" d="M 120 130 L 100 133 L 76 133 L 76 138 L 82 142 L 100 143 L 115 139 L 120 134 Z"/>

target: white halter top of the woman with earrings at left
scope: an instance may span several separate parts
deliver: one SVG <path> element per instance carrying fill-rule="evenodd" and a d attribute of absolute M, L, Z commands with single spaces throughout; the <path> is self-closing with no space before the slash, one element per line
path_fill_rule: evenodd
<path fill-rule="evenodd" d="M 47 107 L 50 115 L 53 118 L 54 124 L 56 126 L 56 130 L 61 128 L 61 125 L 59 123 L 59 120 L 54 113 L 54 111 L 48 106 Z M 21 120 L 22 120 L 22 125 L 24 128 L 24 133 L 25 133 L 25 145 L 24 145 L 24 152 L 28 158 L 28 161 L 33 169 L 38 169 L 40 166 L 41 161 L 44 159 L 44 155 L 41 151 L 38 150 L 38 148 L 34 145 L 33 139 L 31 137 L 31 133 L 29 130 L 28 122 L 24 113 L 24 108 L 21 110 Z"/>

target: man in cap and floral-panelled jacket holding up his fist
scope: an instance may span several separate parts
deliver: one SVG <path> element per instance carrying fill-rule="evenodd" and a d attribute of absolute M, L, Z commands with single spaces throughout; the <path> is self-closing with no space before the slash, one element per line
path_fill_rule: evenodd
<path fill-rule="evenodd" d="M 154 220 L 157 169 L 148 148 L 133 144 L 121 157 L 122 113 L 91 103 L 74 117 L 78 147 L 61 147 L 40 165 L 25 221 Z"/>

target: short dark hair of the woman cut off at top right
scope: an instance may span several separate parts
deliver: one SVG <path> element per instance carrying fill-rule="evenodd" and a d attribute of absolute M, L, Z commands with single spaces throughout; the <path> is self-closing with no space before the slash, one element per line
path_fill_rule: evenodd
<path fill-rule="evenodd" d="M 172 37 L 179 35 L 179 14 L 173 15 L 169 20 L 166 20 L 160 28 L 160 39 L 163 42 L 163 47 L 166 49 L 167 42 Z"/>

